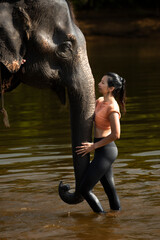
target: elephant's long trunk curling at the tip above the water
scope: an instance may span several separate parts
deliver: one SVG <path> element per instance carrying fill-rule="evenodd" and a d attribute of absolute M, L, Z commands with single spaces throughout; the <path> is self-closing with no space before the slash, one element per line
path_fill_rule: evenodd
<path fill-rule="evenodd" d="M 75 171 L 75 192 L 69 192 L 69 185 L 63 185 L 62 182 L 59 184 L 59 195 L 61 199 L 68 204 L 77 204 L 83 201 L 83 197 L 80 194 L 80 184 L 89 166 L 90 154 L 84 157 L 77 155 L 76 147 L 80 146 L 82 142 L 92 141 L 92 125 L 95 111 L 94 79 L 87 55 L 81 54 L 79 60 L 80 74 L 78 76 L 80 76 L 80 79 L 76 77 L 76 84 L 73 84 L 72 88 L 68 89 L 73 166 Z"/>

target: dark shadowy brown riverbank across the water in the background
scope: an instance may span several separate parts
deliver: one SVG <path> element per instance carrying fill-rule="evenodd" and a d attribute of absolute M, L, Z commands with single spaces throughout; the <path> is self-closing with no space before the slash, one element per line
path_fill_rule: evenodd
<path fill-rule="evenodd" d="M 158 12 L 138 10 L 99 10 L 76 13 L 79 27 L 85 36 L 159 37 Z"/>

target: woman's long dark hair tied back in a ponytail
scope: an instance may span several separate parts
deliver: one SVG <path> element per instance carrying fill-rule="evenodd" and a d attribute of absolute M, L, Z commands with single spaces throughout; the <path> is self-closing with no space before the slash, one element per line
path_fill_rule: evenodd
<path fill-rule="evenodd" d="M 108 72 L 106 75 L 108 76 L 108 86 L 114 87 L 114 90 L 112 92 L 113 96 L 116 98 L 121 106 L 123 113 L 125 114 L 126 80 L 116 73 Z"/>

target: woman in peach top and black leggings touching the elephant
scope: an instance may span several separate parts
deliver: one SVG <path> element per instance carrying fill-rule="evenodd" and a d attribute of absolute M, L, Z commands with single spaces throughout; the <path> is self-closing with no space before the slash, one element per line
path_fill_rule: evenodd
<path fill-rule="evenodd" d="M 101 182 L 109 199 L 112 210 L 120 210 L 120 201 L 116 193 L 112 173 L 112 163 L 118 155 L 114 143 L 120 138 L 120 110 L 125 112 L 125 80 L 116 73 L 107 73 L 98 84 L 103 97 L 96 101 L 94 120 L 94 143 L 84 142 L 77 147 L 77 154 L 82 156 L 95 150 L 80 186 L 80 192 L 94 212 L 104 212 L 99 200 L 92 193 L 93 187 Z M 118 103 L 117 103 L 117 101 Z"/>

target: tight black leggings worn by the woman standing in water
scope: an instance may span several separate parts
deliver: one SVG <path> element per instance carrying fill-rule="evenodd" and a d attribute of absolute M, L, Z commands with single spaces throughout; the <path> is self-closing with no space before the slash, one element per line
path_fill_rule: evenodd
<path fill-rule="evenodd" d="M 95 138 L 94 142 L 102 138 Z M 109 199 L 112 210 L 120 210 L 120 201 L 116 193 L 112 173 L 112 163 L 117 158 L 116 144 L 111 142 L 95 150 L 93 161 L 90 163 L 80 185 L 80 192 L 94 212 L 104 212 L 98 198 L 92 193 L 93 187 L 100 180 Z"/>

